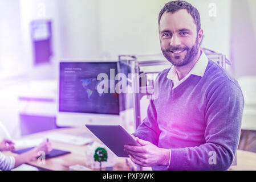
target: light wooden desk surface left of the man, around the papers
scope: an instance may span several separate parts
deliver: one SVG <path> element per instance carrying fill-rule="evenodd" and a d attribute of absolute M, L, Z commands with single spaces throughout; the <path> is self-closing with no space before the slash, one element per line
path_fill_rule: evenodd
<path fill-rule="evenodd" d="M 42 133 L 36 133 L 27 135 L 24 138 L 42 138 L 46 134 L 49 133 L 64 133 L 64 134 L 72 134 L 72 135 L 83 135 L 86 133 L 89 133 L 90 131 L 84 127 L 84 128 L 68 128 L 68 129 L 56 129 L 56 130 L 50 130 L 50 131 L 44 131 Z M 95 140 L 96 137 L 95 137 Z M 71 154 L 58 156 L 56 158 L 47 159 L 45 164 L 38 164 L 37 160 L 34 162 L 29 162 L 27 164 L 30 164 L 31 166 L 39 167 L 42 169 L 47 170 L 54 170 L 54 171 L 67 171 L 69 170 L 69 166 L 74 166 L 76 164 L 80 164 L 82 166 L 86 166 L 86 151 L 88 149 L 88 145 L 84 146 L 76 146 L 72 144 L 62 143 L 62 142 L 55 142 L 54 140 L 51 141 L 52 148 L 59 149 L 59 150 L 67 150 L 71 151 Z M 13 155 L 11 152 L 4 152 L 6 155 Z M 86 166 L 88 167 L 88 166 Z M 88 167 L 90 168 L 90 167 Z M 125 158 L 118 158 L 116 160 L 116 165 L 113 167 L 114 171 L 127 171 L 130 168 L 125 163 Z M 103 168 L 103 170 L 105 170 Z"/>

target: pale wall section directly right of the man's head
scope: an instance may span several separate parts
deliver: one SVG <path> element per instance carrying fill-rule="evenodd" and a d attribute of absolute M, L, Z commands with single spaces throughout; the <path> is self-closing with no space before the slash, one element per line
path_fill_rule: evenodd
<path fill-rule="evenodd" d="M 222 53 L 230 59 L 231 0 L 188 0 L 200 13 L 201 28 L 204 30 L 202 47 Z M 216 5 L 216 17 L 210 17 L 211 3 Z"/>

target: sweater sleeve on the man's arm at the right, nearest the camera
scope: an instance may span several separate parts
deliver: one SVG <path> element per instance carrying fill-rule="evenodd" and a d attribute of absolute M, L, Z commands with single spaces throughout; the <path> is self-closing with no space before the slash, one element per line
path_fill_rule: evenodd
<path fill-rule="evenodd" d="M 206 143 L 171 149 L 168 169 L 226 170 L 231 166 L 241 131 L 242 91 L 233 81 L 227 80 L 206 97 Z"/>

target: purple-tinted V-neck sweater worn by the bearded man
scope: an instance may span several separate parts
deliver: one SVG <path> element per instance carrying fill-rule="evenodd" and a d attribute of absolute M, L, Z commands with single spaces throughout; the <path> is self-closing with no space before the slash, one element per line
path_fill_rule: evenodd
<path fill-rule="evenodd" d="M 238 147 L 243 94 L 234 78 L 209 60 L 203 77 L 190 75 L 172 89 L 159 75 L 159 97 L 151 100 L 136 137 L 171 149 L 169 168 L 153 170 L 226 170 Z"/>

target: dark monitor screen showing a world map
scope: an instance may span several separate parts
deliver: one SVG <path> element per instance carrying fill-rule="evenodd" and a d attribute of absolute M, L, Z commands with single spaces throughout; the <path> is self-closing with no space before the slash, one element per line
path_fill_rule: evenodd
<path fill-rule="evenodd" d="M 116 62 L 60 63 L 59 111 L 69 113 L 119 114 L 119 95 L 110 92 L 100 93 L 97 80 L 100 73 L 108 76 L 108 83 L 115 83 L 111 71 L 117 74 Z M 112 79 L 112 80 L 111 80 Z"/>

